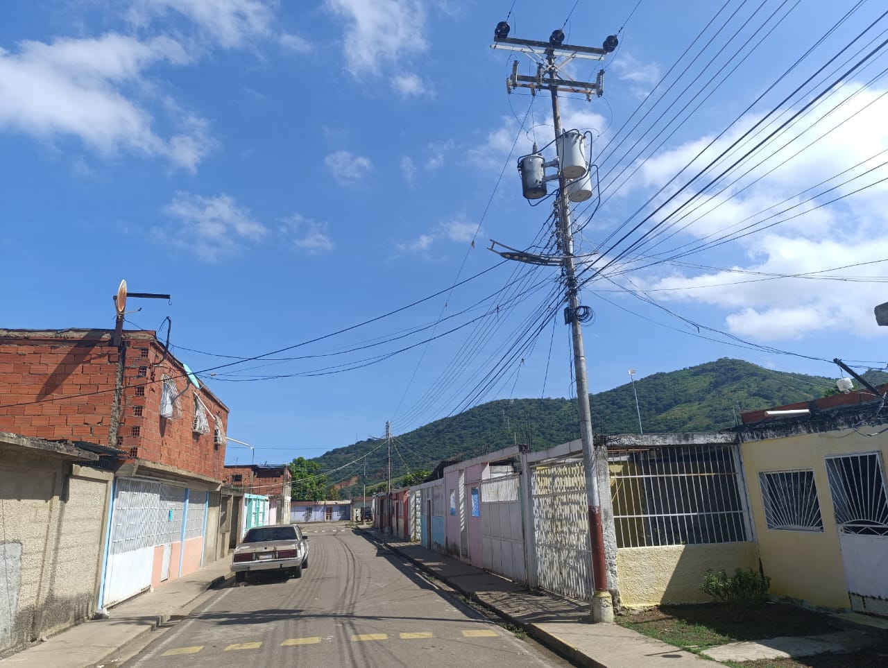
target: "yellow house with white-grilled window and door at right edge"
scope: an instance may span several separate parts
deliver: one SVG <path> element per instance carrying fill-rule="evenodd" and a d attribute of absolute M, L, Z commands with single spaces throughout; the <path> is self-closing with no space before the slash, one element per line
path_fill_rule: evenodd
<path fill-rule="evenodd" d="M 771 593 L 888 615 L 888 406 L 854 393 L 746 413 L 737 428 Z"/>

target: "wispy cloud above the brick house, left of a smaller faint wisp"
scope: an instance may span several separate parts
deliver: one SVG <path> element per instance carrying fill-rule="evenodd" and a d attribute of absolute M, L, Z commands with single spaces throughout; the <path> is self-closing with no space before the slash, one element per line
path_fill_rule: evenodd
<path fill-rule="evenodd" d="M 267 232 L 250 210 L 224 193 L 207 197 L 178 192 L 164 212 L 178 225 L 155 227 L 155 236 L 209 261 L 234 255 L 244 243 L 258 242 Z"/>

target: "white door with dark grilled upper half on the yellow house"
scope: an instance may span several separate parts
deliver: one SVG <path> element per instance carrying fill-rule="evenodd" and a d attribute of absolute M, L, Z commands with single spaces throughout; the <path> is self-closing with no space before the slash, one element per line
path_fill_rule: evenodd
<path fill-rule="evenodd" d="M 851 607 L 888 615 L 888 493 L 879 452 L 827 457 Z"/>

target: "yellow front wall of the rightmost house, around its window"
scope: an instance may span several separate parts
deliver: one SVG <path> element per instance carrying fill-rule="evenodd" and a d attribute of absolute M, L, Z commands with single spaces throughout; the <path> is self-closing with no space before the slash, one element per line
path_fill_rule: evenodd
<path fill-rule="evenodd" d="M 744 442 L 741 451 L 759 555 L 765 575 L 771 577 L 771 592 L 815 606 L 849 608 L 851 602 L 824 458 L 880 451 L 884 463 L 888 460 L 888 443 L 884 437 L 868 438 L 851 429 L 804 433 Z M 813 470 L 823 531 L 768 529 L 758 473 L 799 469 Z M 888 541 L 888 537 L 882 540 Z M 800 564 L 804 564 L 804 568 L 800 568 Z"/>

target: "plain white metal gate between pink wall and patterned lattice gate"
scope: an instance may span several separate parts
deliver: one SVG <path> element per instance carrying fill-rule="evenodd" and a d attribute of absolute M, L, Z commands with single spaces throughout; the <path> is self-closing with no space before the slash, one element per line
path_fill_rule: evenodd
<path fill-rule="evenodd" d="M 520 475 L 481 481 L 481 554 L 485 569 L 527 582 L 520 483 Z"/>

